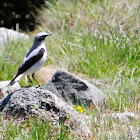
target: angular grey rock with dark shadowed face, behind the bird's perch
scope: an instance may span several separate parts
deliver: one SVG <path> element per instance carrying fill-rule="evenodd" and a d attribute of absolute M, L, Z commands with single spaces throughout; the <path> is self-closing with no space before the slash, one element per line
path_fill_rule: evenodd
<path fill-rule="evenodd" d="M 69 104 L 100 104 L 105 98 L 100 89 L 64 70 L 57 70 L 43 88 L 55 93 Z"/>

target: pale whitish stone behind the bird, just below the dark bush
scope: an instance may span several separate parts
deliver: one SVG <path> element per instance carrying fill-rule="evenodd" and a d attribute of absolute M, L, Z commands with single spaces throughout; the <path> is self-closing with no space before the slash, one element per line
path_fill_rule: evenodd
<path fill-rule="evenodd" d="M 3 45 L 4 43 L 8 43 L 11 40 L 19 40 L 23 38 L 29 39 L 29 36 L 24 33 L 14 31 L 12 29 L 7 29 L 4 27 L 0 28 L 0 45 Z"/>

